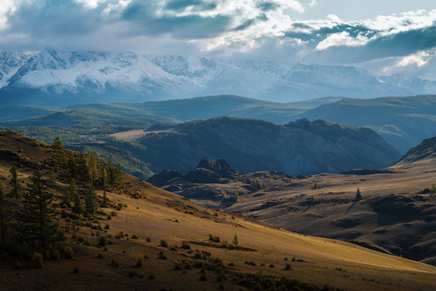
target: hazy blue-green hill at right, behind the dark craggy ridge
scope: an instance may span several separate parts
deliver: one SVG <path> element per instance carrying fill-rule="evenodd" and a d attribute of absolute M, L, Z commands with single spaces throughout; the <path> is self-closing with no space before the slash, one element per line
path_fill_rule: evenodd
<path fill-rule="evenodd" d="M 436 96 L 344 98 L 295 116 L 370 127 L 401 153 L 436 135 Z"/>

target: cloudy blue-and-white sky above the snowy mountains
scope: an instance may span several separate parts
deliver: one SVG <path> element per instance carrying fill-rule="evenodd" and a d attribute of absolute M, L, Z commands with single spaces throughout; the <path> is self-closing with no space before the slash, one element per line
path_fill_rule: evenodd
<path fill-rule="evenodd" d="M 1 0 L 0 51 L 53 47 L 354 65 L 436 80 L 433 2 Z"/>

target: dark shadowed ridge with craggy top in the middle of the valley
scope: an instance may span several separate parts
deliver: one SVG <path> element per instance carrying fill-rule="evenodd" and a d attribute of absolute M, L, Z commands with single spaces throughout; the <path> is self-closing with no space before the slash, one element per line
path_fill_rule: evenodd
<path fill-rule="evenodd" d="M 146 148 L 138 153 L 139 159 L 147 161 L 155 173 L 164 169 L 187 173 L 203 157 L 226 159 L 246 173 L 274 170 L 288 175 L 383 168 L 400 158 L 399 152 L 372 129 L 322 120 L 277 125 L 263 120 L 212 118 L 152 126 L 137 143 Z"/>

